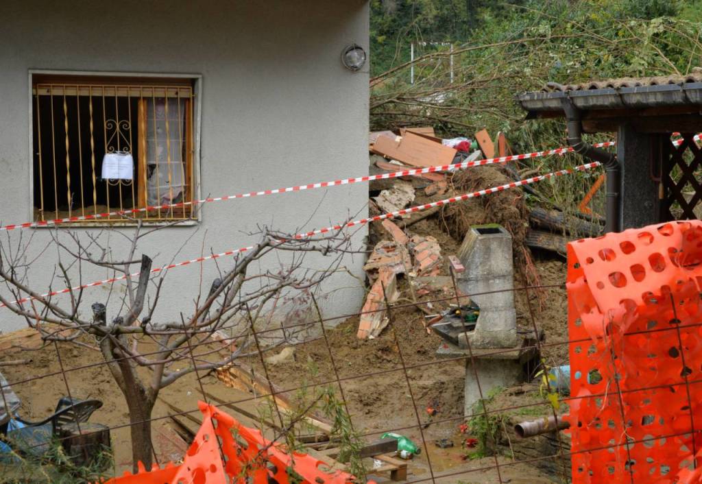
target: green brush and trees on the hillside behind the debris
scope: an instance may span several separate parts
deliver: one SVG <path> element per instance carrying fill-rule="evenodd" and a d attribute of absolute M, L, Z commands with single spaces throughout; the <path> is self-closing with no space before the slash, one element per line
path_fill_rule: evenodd
<path fill-rule="evenodd" d="M 373 0 L 371 128 L 431 125 L 441 136 L 468 137 L 486 128 L 493 137 L 503 131 L 515 152 L 562 146 L 563 120 L 525 120 L 515 95 L 550 81 L 692 72 L 702 67 L 701 20 L 702 0 Z M 546 157 L 520 174 L 581 163 L 575 155 Z M 551 178 L 535 188 L 541 204 L 574 211 L 597 176 Z M 604 203 L 598 196 L 595 208 Z"/>

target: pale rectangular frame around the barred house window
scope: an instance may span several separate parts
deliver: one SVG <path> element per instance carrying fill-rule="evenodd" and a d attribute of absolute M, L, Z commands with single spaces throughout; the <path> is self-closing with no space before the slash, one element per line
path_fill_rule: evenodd
<path fill-rule="evenodd" d="M 192 102 L 190 103 L 192 109 L 192 199 L 201 199 L 201 166 L 200 166 L 200 140 L 201 140 L 201 110 L 202 110 L 202 75 L 201 74 L 183 74 L 183 73 L 172 73 L 172 72 L 112 72 L 112 71 L 86 71 L 86 70 L 48 70 L 48 69 L 29 69 L 27 72 L 27 108 L 28 108 L 28 159 L 29 163 L 29 207 L 27 209 L 27 220 L 34 221 L 34 84 L 35 77 L 37 76 L 67 76 L 67 77 L 94 77 L 96 82 L 100 79 L 105 79 L 107 77 L 124 77 L 129 79 L 144 79 L 149 81 L 150 79 L 187 79 L 192 81 Z M 138 144 L 138 147 L 133 147 L 133 151 L 137 152 L 142 143 Z M 135 149 L 136 148 L 136 149 Z M 134 176 L 139 176 L 139 169 L 135 168 Z M 135 201 L 136 203 L 136 201 Z M 199 205 L 192 206 L 194 210 L 194 216 L 185 219 L 174 219 L 174 220 L 143 220 L 143 225 L 159 226 L 159 225 L 173 225 L 173 226 L 193 226 L 198 225 L 202 221 L 202 211 L 197 210 Z M 110 211 L 118 211 L 118 207 L 110 207 Z M 175 222 L 175 223 L 174 223 Z M 105 227 L 133 227 L 136 225 L 135 222 L 129 220 L 117 220 L 111 219 L 107 220 L 91 220 L 91 221 L 81 221 L 81 222 L 69 222 L 62 224 L 65 226 L 70 226 L 71 228 L 105 228 Z M 53 228 L 52 224 L 37 225 L 35 228 Z"/>

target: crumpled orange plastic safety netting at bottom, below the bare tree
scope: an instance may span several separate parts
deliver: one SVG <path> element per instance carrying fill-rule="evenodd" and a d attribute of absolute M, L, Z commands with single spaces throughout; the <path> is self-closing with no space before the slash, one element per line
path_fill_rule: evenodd
<path fill-rule="evenodd" d="M 199 407 L 203 415 L 202 425 L 183 458 L 183 464 L 176 466 L 169 462 L 163 469 L 154 466 L 151 471 L 146 471 L 139 463 L 137 474 L 126 472 L 107 484 L 355 482 L 350 473 L 325 471 L 327 464 L 307 454 L 289 454 L 284 445 L 267 440 L 260 431 L 239 424 L 234 417 L 213 405 L 200 402 Z M 375 483 L 369 481 L 369 484 Z"/>

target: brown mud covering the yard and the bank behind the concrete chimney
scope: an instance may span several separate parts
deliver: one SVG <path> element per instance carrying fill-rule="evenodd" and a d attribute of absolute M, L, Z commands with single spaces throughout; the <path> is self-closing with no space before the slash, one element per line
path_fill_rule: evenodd
<path fill-rule="evenodd" d="M 504 183 L 507 178 L 498 170 L 478 169 L 471 173 L 479 174 L 471 183 L 494 186 Z M 422 183 L 422 182 L 420 182 Z M 424 185 L 426 183 L 423 183 Z M 472 185 L 465 179 L 454 183 L 456 192 L 470 190 Z M 476 187 L 477 188 L 477 187 Z M 447 196 L 447 195 L 444 195 Z M 545 332 L 546 340 L 543 356 L 549 365 L 562 365 L 568 361 L 567 346 L 559 342 L 567 341 L 567 297 L 563 287 L 565 282 L 565 262 L 552 254 L 532 254 L 524 246 L 524 200 L 522 192 L 510 190 L 494 197 L 474 199 L 456 204 L 451 210 L 444 210 L 435 216 L 411 225 L 410 233 L 432 235 L 439 240 L 442 254 L 455 254 L 461 242 L 461 230 L 475 223 L 502 223 L 515 235 L 515 287 L 524 284 L 557 287 L 541 287 L 529 292 L 515 292 L 517 322 L 523 329 L 532 329 L 534 324 Z M 434 200 L 437 197 L 434 197 Z M 414 204 L 430 201 L 418 190 Z M 383 230 L 371 226 L 371 243 L 388 238 Z M 442 275 L 448 275 L 444 264 Z M 364 440 L 378 438 L 383 431 L 390 429 L 409 436 L 418 444 L 425 443 L 429 452 L 423 452 L 410 464 L 411 479 L 431 480 L 435 474 L 451 474 L 437 482 L 445 483 L 494 483 L 499 482 L 494 469 L 494 457 L 471 459 L 475 450 L 463 447 L 465 438 L 458 427 L 463 423 L 463 384 L 465 365 L 463 361 L 447 361 L 435 354 L 442 344 L 435 334 L 425 330 L 425 314 L 411 306 L 411 296 L 407 282 L 400 280 L 403 306 L 392 312 L 392 323 L 376 339 L 357 339 L 357 318 L 342 322 L 335 329 L 326 332 L 314 341 L 295 346 L 293 359 L 267 368 L 270 379 L 284 389 L 291 390 L 293 397 L 298 388 L 311 384 L 331 386 L 341 391 L 338 396 L 345 400 L 354 430 Z M 430 309 L 438 313 L 452 301 L 447 298 L 452 288 L 418 296 L 419 301 L 447 299 L 432 303 Z M 65 368 L 86 367 L 67 373 L 67 381 L 72 396 L 76 398 L 99 398 L 103 407 L 95 412 L 91 421 L 116 427 L 112 430 L 117 469 L 131 467 L 131 444 L 128 433 L 128 413 L 124 398 L 114 385 L 107 368 L 99 365 L 102 357 L 98 351 L 85 347 L 60 345 L 62 360 L 59 363 L 53 346 L 41 346 L 41 341 L 31 332 L 18 332 L 0 336 L 0 361 L 29 360 L 24 365 L 0 366 L 13 389 L 22 398 L 22 417 L 41 419 L 53 412 L 56 401 L 67 394 L 66 383 L 59 374 L 60 364 Z M 247 360 L 258 374 L 264 374 L 263 366 L 257 358 Z M 51 374 L 44 379 L 32 380 L 40 374 Z M 359 377 L 359 375 L 363 375 Z M 409 385 L 408 385 L 409 381 Z M 204 377 L 206 391 L 216 391 L 224 400 L 235 400 L 240 394 L 231 393 L 212 375 Z M 164 395 L 179 405 L 191 407 L 199 398 L 199 385 L 191 377 L 179 380 L 164 391 Z M 227 393 L 230 392 L 230 393 Z M 527 393 L 498 396 L 495 405 L 514 406 L 531 401 L 538 403 L 538 386 L 531 386 Z M 436 410 L 430 416 L 427 408 Z M 548 414 L 548 405 L 537 405 L 537 410 L 519 410 L 525 416 L 534 417 Z M 186 443 L 180 438 L 178 429 L 167 416 L 173 409 L 157 403 L 154 408 L 154 446 L 157 447 L 159 462 L 178 460 L 183 455 Z M 197 414 L 194 414 L 197 417 Z M 419 429 L 417 420 L 422 424 Z M 439 449 L 435 440 L 447 438 L 454 447 Z M 557 476 L 543 473 L 532 466 L 513 464 L 508 457 L 501 456 L 500 474 L 503 482 L 547 483 Z M 431 471 L 430 471 L 431 466 Z M 453 475 L 456 473 L 456 475 Z"/>

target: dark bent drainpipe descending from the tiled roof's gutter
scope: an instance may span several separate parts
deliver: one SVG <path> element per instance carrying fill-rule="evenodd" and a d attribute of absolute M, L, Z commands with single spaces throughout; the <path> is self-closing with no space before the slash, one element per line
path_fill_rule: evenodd
<path fill-rule="evenodd" d="M 600 148 L 595 148 L 583 141 L 583 115 L 581 110 L 575 107 L 569 96 L 562 99 L 562 105 L 568 120 L 568 144 L 579 155 L 592 159 L 592 161 L 600 162 L 604 166 L 607 174 L 607 207 L 605 209 L 607 220 L 604 224 L 604 232 L 618 232 L 620 230 L 619 190 L 621 188 L 621 166 L 619 166 L 616 155 Z"/>

